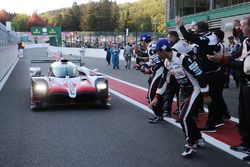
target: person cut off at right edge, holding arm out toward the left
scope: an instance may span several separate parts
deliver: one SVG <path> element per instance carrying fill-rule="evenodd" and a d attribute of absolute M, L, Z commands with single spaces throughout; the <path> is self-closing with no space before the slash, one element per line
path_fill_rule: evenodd
<path fill-rule="evenodd" d="M 250 16 L 241 21 L 241 29 L 247 38 L 243 41 L 243 51 L 240 59 L 234 60 L 233 56 L 220 55 L 208 56 L 210 60 L 228 64 L 229 67 L 240 72 L 240 95 L 239 95 L 239 132 L 241 143 L 230 148 L 235 151 L 247 153 L 243 160 L 250 161 Z"/>

